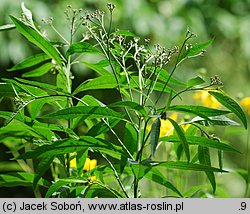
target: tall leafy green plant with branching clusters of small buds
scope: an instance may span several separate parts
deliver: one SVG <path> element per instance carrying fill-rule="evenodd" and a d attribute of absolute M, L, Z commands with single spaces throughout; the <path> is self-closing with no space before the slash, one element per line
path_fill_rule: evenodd
<path fill-rule="evenodd" d="M 247 128 L 246 117 L 221 89 L 218 76 L 209 83 L 199 76 L 185 82 L 173 77 L 183 72 L 179 65 L 202 56 L 213 40 L 197 44 L 196 35 L 187 30 L 178 46 L 152 45 L 114 26 L 115 5 L 107 8 L 106 13 L 87 13 L 69 6 L 69 38 L 56 29 L 53 19 L 43 20 L 58 41 L 49 39 L 50 33 L 44 33 L 24 4 L 21 18 L 11 16 L 13 24 L 0 28 L 15 29 L 24 42 L 40 49 L 8 69 L 22 72 L 22 78 L 0 83 L 2 102 L 12 106 L 12 111 L 0 112 L 5 121 L 1 142 L 21 168 L 0 175 L 1 186 L 31 186 L 37 197 L 137 198 L 156 183 L 166 189 L 166 195 L 159 191 L 158 197 L 191 197 L 194 191 L 179 185 L 187 182 L 182 177 L 187 170 L 205 175 L 207 191 L 215 193 L 215 174 L 228 173 L 223 152 L 239 151 L 210 133 L 209 127 L 241 122 Z M 81 38 L 76 38 L 79 33 Z M 96 62 L 82 60 L 90 54 Z M 76 64 L 96 76 L 72 87 Z M 47 73 L 56 76 L 54 84 L 39 81 Z M 97 99 L 96 90 L 105 91 L 105 96 L 116 91 L 116 101 Z M 183 103 L 182 97 L 192 93 L 197 98 L 206 94 L 204 102 L 214 105 Z M 238 122 L 229 119 L 230 114 Z M 216 158 L 211 158 L 211 150 Z"/>

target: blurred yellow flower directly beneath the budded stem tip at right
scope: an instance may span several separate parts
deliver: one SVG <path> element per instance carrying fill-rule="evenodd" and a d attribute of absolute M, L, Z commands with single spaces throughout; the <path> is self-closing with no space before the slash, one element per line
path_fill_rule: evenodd
<path fill-rule="evenodd" d="M 194 99 L 199 100 L 204 106 L 218 108 L 221 104 L 207 91 L 199 91 L 194 94 Z"/>

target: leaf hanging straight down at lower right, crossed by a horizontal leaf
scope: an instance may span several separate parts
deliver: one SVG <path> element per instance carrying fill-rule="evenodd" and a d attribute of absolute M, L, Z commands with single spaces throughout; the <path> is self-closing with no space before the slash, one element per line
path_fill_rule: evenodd
<path fill-rule="evenodd" d="M 209 152 L 208 147 L 198 146 L 198 158 L 199 158 L 199 162 L 201 164 L 211 166 L 210 152 Z M 213 192 L 215 192 L 216 181 L 215 181 L 215 177 L 214 177 L 214 172 L 205 171 L 205 173 L 206 173 L 208 180 L 210 181 L 210 183 L 213 187 Z"/>

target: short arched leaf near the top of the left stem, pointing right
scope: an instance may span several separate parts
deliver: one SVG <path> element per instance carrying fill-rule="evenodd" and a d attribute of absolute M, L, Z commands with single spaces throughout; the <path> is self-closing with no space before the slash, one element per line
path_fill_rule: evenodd
<path fill-rule="evenodd" d="M 74 53 L 89 53 L 89 54 L 101 54 L 98 48 L 87 42 L 78 42 L 72 44 L 66 52 L 66 57 L 68 58 L 70 55 Z"/>

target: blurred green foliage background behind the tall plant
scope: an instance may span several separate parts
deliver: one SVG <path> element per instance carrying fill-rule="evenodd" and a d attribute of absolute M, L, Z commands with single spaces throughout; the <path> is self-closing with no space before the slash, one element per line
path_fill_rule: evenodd
<path fill-rule="evenodd" d="M 187 80 L 196 74 L 209 78 L 218 75 L 224 83 L 224 90 L 234 99 L 240 101 L 250 96 L 250 0 L 0 0 L 0 25 L 11 23 L 9 15 L 19 17 L 21 2 L 32 10 L 35 20 L 45 27 L 42 18 L 54 18 L 54 25 L 68 35 L 65 24 L 64 10 L 67 5 L 73 8 L 83 8 L 92 11 L 96 8 L 106 10 L 108 2 L 117 7 L 114 12 L 114 24 L 120 29 L 129 29 L 142 38 L 150 38 L 152 43 L 173 47 L 180 45 L 185 37 L 187 28 L 195 32 L 198 37 L 195 42 L 207 41 L 215 38 L 205 57 L 185 62 L 176 77 Z M 49 37 L 53 38 L 50 34 Z M 0 33 L 0 77 L 20 75 L 10 74 L 6 71 L 13 64 L 20 62 L 38 50 L 15 30 Z M 76 67 L 73 71 L 78 80 L 82 81 L 90 75 L 86 67 Z M 198 103 L 192 96 L 184 99 L 188 103 Z M 0 104 L 0 110 L 8 109 L 5 103 Z M 238 148 L 243 154 L 225 154 L 225 168 L 246 169 L 247 131 L 242 127 L 220 128 L 213 131 L 226 139 L 229 144 Z M 1 140 L 1 139 L 0 139 Z M 7 161 L 6 148 L 0 144 L 0 161 Z M 162 154 L 164 155 L 164 154 Z M 0 166 L 1 172 L 16 170 Z M 190 181 L 192 183 L 192 181 Z M 222 187 L 221 196 L 243 197 L 245 191 L 244 179 L 237 173 L 218 176 L 218 183 Z M 152 190 L 154 188 L 154 191 Z M 146 196 L 154 196 L 152 187 Z M 5 191 L 0 188 L 0 197 L 32 197 L 32 191 Z M 22 191 L 22 193 L 20 193 Z M 147 195 L 148 194 L 148 195 Z"/>

